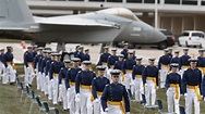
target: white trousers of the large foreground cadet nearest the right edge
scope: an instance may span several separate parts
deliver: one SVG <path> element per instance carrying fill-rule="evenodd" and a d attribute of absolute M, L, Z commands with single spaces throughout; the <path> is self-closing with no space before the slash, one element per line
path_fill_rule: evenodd
<path fill-rule="evenodd" d="M 194 102 L 194 114 L 200 113 L 200 101 L 194 89 L 186 89 L 188 96 L 185 97 L 185 114 L 192 114 L 192 102 Z M 200 91 L 198 91 L 200 92 Z"/>

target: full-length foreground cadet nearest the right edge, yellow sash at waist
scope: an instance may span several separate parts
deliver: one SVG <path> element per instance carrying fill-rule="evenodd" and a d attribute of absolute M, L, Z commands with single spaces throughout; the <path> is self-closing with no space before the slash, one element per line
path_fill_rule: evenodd
<path fill-rule="evenodd" d="M 196 67 L 197 60 L 190 59 L 188 68 L 182 78 L 182 93 L 185 98 L 185 114 L 192 114 L 192 102 L 194 102 L 194 114 L 200 114 L 202 72 Z"/>

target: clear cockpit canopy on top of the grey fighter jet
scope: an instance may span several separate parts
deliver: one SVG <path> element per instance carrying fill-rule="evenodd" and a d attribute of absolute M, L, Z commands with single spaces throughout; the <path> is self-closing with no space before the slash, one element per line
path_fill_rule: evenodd
<path fill-rule="evenodd" d="M 112 15 L 129 18 L 132 21 L 138 21 L 138 18 L 134 15 L 132 11 L 124 9 L 124 8 L 111 8 L 111 9 L 97 11 L 97 13 L 112 14 Z"/>

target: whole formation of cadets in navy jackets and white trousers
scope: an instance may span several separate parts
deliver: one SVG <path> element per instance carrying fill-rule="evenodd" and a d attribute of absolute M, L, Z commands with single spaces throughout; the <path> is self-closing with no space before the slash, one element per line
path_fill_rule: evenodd
<path fill-rule="evenodd" d="M 3 84 L 15 81 L 12 47 L 0 49 L 0 71 Z M 61 61 L 61 54 L 49 48 L 27 47 L 24 53 L 25 83 L 32 86 L 36 76 L 37 89 L 41 90 L 53 104 L 63 104 L 70 114 L 129 114 L 130 99 L 142 101 L 145 94 L 146 105 L 154 105 L 158 87 L 167 88 L 168 112 L 179 114 L 180 94 L 185 97 L 185 113 L 200 114 L 200 101 L 205 97 L 205 58 L 204 50 L 198 56 L 190 56 L 189 49 L 179 51 L 165 49 L 158 65 L 155 59 L 148 59 L 148 65 L 142 64 L 128 50 L 128 43 L 121 54 L 104 48 L 97 63 L 97 73 L 93 72 L 89 50 L 76 46 L 71 60 Z M 158 78 L 158 76 L 160 76 Z M 174 109 L 174 110 L 173 110 Z"/>

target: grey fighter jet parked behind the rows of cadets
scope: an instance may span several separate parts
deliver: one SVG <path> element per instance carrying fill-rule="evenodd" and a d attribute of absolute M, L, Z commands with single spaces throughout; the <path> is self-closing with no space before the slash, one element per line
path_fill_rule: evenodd
<path fill-rule="evenodd" d="M 25 0 L 0 0 L 0 31 L 29 34 L 36 43 L 131 43 L 161 45 L 166 37 L 124 8 L 55 17 L 33 16 Z"/>

